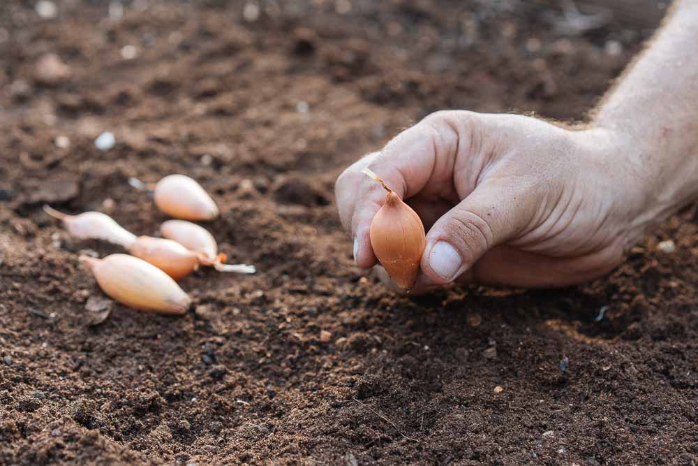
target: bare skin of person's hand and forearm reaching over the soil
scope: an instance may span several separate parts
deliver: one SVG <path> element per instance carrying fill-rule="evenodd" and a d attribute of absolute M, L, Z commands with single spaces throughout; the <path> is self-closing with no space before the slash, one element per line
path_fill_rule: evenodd
<path fill-rule="evenodd" d="M 361 173 L 369 167 L 424 222 L 415 293 L 607 274 L 644 233 L 698 199 L 697 44 L 698 1 L 677 1 L 584 126 L 449 110 L 364 156 L 335 187 L 357 265 L 377 263 L 369 228 L 385 200 Z"/>

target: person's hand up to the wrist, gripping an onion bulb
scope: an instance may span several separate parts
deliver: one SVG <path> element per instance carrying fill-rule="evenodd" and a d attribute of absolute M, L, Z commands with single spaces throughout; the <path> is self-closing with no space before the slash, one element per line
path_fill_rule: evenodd
<path fill-rule="evenodd" d="M 646 222 L 621 140 L 520 115 L 429 115 L 337 180 L 355 261 L 376 265 L 369 228 L 385 191 L 361 173 L 369 167 L 427 231 L 415 293 L 454 281 L 537 287 L 600 277 Z M 380 267 L 378 275 L 390 284 Z"/>

